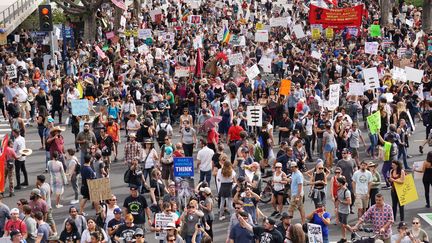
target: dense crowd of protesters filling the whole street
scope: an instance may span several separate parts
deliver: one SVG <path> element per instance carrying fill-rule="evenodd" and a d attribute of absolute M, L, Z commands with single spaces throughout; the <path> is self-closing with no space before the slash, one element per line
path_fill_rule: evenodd
<path fill-rule="evenodd" d="M 421 7 L 146 1 L 141 9 L 126 6 L 114 29 L 123 7 L 112 2 L 97 11 L 95 41 L 82 39 L 67 18 L 74 43 L 63 38 L 67 44 L 58 46 L 65 49 L 51 59 L 26 30 L 0 46 L 0 105 L 11 127 L 2 144 L 1 235 L 14 243 L 151 242 L 153 235 L 161 243 L 207 243 L 218 242 L 213 223 L 227 221 L 226 242 L 300 243 L 314 223 L 327 243 L 334 223 L 343 243 L 367 231 L 366 223 L 375 242 L 429 242 L 420 219 L 405 217 L 396 191 L 410 173 L 423 173 L 419 200 L 430 208 L 432 33 L 421 29 Z M 310 4 L 361 5 L 361 25 L 332 35 L 321 29 L 316 38 Z M 383 11 L 390 23 L 372 36 Z M 276 18 L 286 23 L 272 25 Z M 267 41 L 254 38 L 261 30 Z M 366 42 L 378 43 L 375 54 Z M 423 71 L 420 82 L 398 76 L 405 66 Z M 363 71 L 373 67 L 379 86 L 353 94 L 350 86 L 366 84 Z M 77 100 L 88 102 L 79 107 L 87 113 L 77 113 Z M 259 125 L 250 106 L 260 107 Z M 374 114 L 379 127 L 368 121 Z M 408 148 L 422 126 L 418 151 L 427 156 L 417 166 Z M 30 200 L 6 205 L 4 197 L 32 184 L 26 159 L 37 148 L 25 138 L 34 128 L 45 173 L 37 175 Z M 174 176 L 179 157 L 194 158 L 194 183 Z M 120 174 L 111 173 L 116 163 L 126 165 Z M 90 200 L 89 181 L 107 177 L 124 180 L 123 201 L 115 194 Z M 65 191 L 73 192 L 70 203 Z M 261 202 L 271 202 L 273 212 L 266 214 Z M 59 225 L 54 216 L 62 203 L 71 206 Z M 307 212 L 309 203 L 314 210 Z M 350 217 L 357 223 L 350 225 Z"/>

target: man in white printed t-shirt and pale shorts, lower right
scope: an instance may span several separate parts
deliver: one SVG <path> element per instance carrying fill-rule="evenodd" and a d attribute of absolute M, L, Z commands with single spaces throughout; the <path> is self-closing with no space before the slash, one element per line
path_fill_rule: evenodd
<path fill-rule="evenodd" d="M 357 207 L 358 217 L 363 215 L 369 203 L 369 192 L 372 185 L 372 173 L 367 169 L 367 162 L 360 163 L 360 170 L 354 172 L 352 177 L 352 188 L 355 194 L 355 206 Z"/>

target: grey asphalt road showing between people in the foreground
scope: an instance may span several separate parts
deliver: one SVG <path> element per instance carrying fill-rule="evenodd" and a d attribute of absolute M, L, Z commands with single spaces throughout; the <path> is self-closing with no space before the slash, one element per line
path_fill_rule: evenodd
<path fill-rule="evenodd" d="M 409 164 L 412 167 L 412 163 L 415 161 L 423 161 L 426 158 L 426 153 L 428 151 L 430 151 L 430 148 L 425 147 L 425 154 L 424 155 L 420 155 L 418 152 L 418 146 L 420 144 L 421 141 L 423 141 L 423 139 L 425 138 L 425 129 L 422 126 L 421 123 L 417 124 L 417 130 L 415 131 L 415 133 L 413 134 L 413 136 L 411 136 L 410 138 L 410 147 L 408 149 L 409 151 L 409 155 L 412 155 L 412 158 L 409 159 Z M 6 125 L 6 123 L 4 121 L 0 121 L 0 132 L 1 133 L 7 133 L 8 127 Z M 174 128 L 175 131 L 178 131 L 178 128 Z M 363 130 L 363 134 L 367 135 L 367 133 Z M 71 129 L 70 127 L 67 128 L 67 130 L 65 132 L 63 132 L 63 136 L 65 138 L 65 148 L 73 148 L 73 142 L 74 142 L 74 136 L 71 133 Z M 277 137 L 277 136 L 275 136 Z M 174 135 L 174 139 L 173 142 L 178 142 L 180 136 L 178 135 L 178 132 L 175 132 Z M 366 141 L 368 142 L 368 138 L 366 138 Z M 127 189 L 127 185 L 123 182 L 123 174 L 125 171 L 125 165 L 122 162 L 122 158 L 123 158 L 123 148 L 124 148 L 124 144 L 125 144 L 126 139 L 124 138 L 124 131 L 122 131 L 122 141 L 121 144 L 119 145 L 119 151 L 120 154 L 118 156 L 119 158 L 119 162 L 117 163 L 113 163 L 112 164 L 112 169 L 111 169 L 111 174 L 110 174 L 110 178 L 111 178 L 111 188 L 112 188 L 112 192 L 117 196 L 118 198 L 118 203 L 121 206 L 123 204 L 123 200 L 124 198 L 129 194 L 129 190 Z M 38 150 L 41 145 L 40 145 L 40 141 L 39 141 L 39 136 L 37 134 L 37 130 L 36 128 L 33 127 L 29 127 L 27 130 L 27 135 L 26 135 L 26 143 L 27 143 L 27 147 L 33 149 L 33 154 L 31 156 L 27 157 L 27 161 L 26 161 L 26 166 L 27 166 L 27 171 L 29 174 L 29 181 L 30 181 L 30 185 L 22 190 L 16 191 L 16 195 L 12 198 L 6 197 L 3 201 L 4 203 L 6 203 L 7 205 L 9 205 L 10 208 L 13 208 L 16 206 L 16 202 L 18 199 L 20 198 L 29 198 L 30 196 L 30 191 L 32 188 L 34 188 L 34 184 L 36 181 L 36 176 L 39 174 L 43 174 L 45 171 L 45 151 L 42 150 Z M 226 146 L 227 147 L 227 146 Z M 228 149 L 228 148 L 227 148 Z M 275 152 L 277 152 L 278 148 L 275 149 Z M 227 151 L 227 153 L 229 153 L 229 151 Z M 196 156 L 196 151 L 194 153 L 194 156 Z M 363 153 L 361 154 L 361 158 L 365 158 L 365 153 L 363 151 Z M 379 163 L 379 170 L 381 170 L 381 164 Z M 311 168 L 313 166 L 313 164 L 309 164 L 308 167 Z M 47 178 L 48 178 L 48 174 L 46 174 Z M 195 181 L 198 181 L 198 177 L 199 175 L 196 174 L 195 175 Z M 213 178 L 212 178 L 213 180 Z M 411 220 L 413 217 L 417 216 L 418 213 L 431 213 L 432 210 L 431 209 L 427 209 L 425 208 L 425 200 L 424 200 L 424 189 L 423 189 L 423 184 L 421 182 L 421 179 L 417 179 L 415 180 L 415 184 L 416 184 L 416 188 L 417 188 L 417 192 L 419 195 L 419 199 L 413 203 L 410 203 L 408 205 L 405 206 L 405 221 L 407 222 L 407 224 L 411 224 Z M 215 185 L 214 182 L 212 181 L 211 183 L 212 186 L 212 190 L 213 192 L 215 191 Z M 305 188 L 307 190 L 307 188 Z M 386 203 L 391 204 L 391 197 L 390 197 L 390 191 L 389 190 L 384 190 L 381 191 L 381 193 L 384 194 L 385 196 L 385 201 Z M 328 193 L 327 193 L 328 194 Z M 8 195 L 8 193 L 6 192 L 5 195 Z M 147 200 L 149 201 L 149 196 L 146 194 L 145 195 Z M 54 197 L 52 197 L 54 198 Z M 54 219 L 57 223 L 57 227 L 58 227 L 58 231 L 59 233 L 61 232 L 62 229 L 62 223 L 65 219 L 65 217 L 68 216 L 68 208 L 69 208 L 69 202 L 72 200 L 73 198 L 73 190 L 70 186 L 66 187 L 65 189 L 65 193 L 63 195 L 63 200 L 62 200 L 62 204 L 64 205 L 63 208 L 59 208 L 59 209 L 55 209 L 53 211 L 53 215 L 54 215 Z M 330 199 L 328 199 L 328 202 L 330 202 Z M 53 205 L 55 204 L 54 202 L 52 203 Z M 76 205 L 78 206 L 78 205 Z M 259 204 L 260 209 L 264 212 L 264 214 L 266 215 L 270 215 L 273 212 L 273 208 L 271 207 L 270 204 Z M 310 200 L 307 200 L 305 202 L 305 209 L 306 209 L 306 213 L 311 212 L 314 208 L 313 208 L 313 203 Z M 287 211 L 287 206 L 284 207 L 284 211 Z M 333 215 L 334 212 L 334 208 L 333 208 L 333 204 L 332 203 L 328 203 L 328 208 L 327 211 L 330 212 Z M 89 204 L 87 204 L 87 208 L 85 210 L 85 212 L 89 213 L 90 216 L 94 216 L 95 212 L 94 210 L 92 210 L 89 206 Z M 215 211 L 217 212 L 217 211 Z M 217 215 L 217 214 L 216 214 Z M 229 218 L 229 217 L 227 217 Z M 293 223 L 297 223 L 300 222 L 300 216 L 298 214 L 298 212 L 296 212 L 294 214 L 294 219 L 293 219 Z M 356 214 L 351 214 L 349 216 L 349 223 L 350 224 L 355 224 L 357 221 L 357 216 Z M 396 218 L 396 223 L 399 222 L 399 215 Z M 428 223 L 426 223 L 425 221 L 421 220 L 422 223 L 422 227 L 423 229 L 426 230 L 426 232 L 429 233 L 429 237 L 432 237 L 432 226 L 428 225 Z M 224 220 L 224 221 L 219 221 L 218 219 L 215 220 L 215 222 L 213 222 L 213 232 L 214 232 L 214 242 L 225 242 L 225 239 L 227 237 L 226 232 L 227 232 L 227 226 L 228 226 L 228 219 Z M 393 225 L 393 232 L 396 231 L 396 224 Z M 334 225 L 334 218 L 332 217 L 332 224 L 329 228 L 329 233 L 330 233 L 330 241 L 338 241 L 340 239 L 340 228 L 339 226 Z M 348 236 L 349 237 L 349 236 Z M 157 242 L 154 239 L 154 234 L 153 233 L 147 233 L 146 234 L 146 240 L 148 242 Z"/>

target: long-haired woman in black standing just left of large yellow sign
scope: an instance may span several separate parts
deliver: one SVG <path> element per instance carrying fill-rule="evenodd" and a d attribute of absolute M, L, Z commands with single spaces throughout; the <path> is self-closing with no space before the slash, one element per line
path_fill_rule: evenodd
<path fill-rule="evenodd" d="M 400 213 L 400 221 L 404 221 L 405 219 L 405 211 L 404 206 L 400 205 L 399 198 L 396 193 L 395 184 L 403 184 L 405 181 L 405 171 L 402 168 L 402 163 L 393 160 L 390 170 L 390 178 L 389 182 L 391 183 L 391 197 L 392 197 L 392 208 L 393 208 L 393 217 L 396 218 L 397 207 L 399 206 Z"/>

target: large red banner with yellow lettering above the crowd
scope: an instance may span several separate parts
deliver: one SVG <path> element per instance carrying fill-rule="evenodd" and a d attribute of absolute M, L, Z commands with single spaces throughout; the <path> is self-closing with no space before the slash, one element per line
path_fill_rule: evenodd
<path fill-rule="evenodd" d="M 344 29 L 345 27 L 359 27 L 362 23 L 363 5 L 352 8 L 326 9 L 310 5 L 309 23 L 322 24 L 323 28 Z"/>

